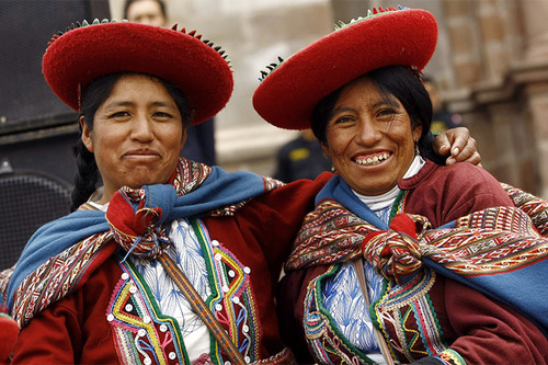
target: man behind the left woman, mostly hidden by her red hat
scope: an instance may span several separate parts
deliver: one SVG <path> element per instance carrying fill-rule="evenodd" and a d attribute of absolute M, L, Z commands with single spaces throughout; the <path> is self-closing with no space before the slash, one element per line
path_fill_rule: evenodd
<path fill-rule="evenodd" d="M 126 0 L 124 19 L 130 22 L 165 27 L 168 25 L 165 2 L 163 0 Z M 214 117 L 189 128 L 186 144 L 181 156 L 208 166 L 217 164 Z"/>

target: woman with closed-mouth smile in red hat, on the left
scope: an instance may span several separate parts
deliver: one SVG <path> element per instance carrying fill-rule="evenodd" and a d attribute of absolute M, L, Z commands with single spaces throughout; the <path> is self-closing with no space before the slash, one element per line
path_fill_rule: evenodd
<path fill-rule="evenodd" d="M 128 22 L 54 36 L 44 76 L 81 115 L 77 210 L 42 227 L 11 276 L 14 363 L 290 361 L 273 288 L 330 174 L 283 186 L 179 158 L 189 125 L 230 96 L 222 54 Z"/>

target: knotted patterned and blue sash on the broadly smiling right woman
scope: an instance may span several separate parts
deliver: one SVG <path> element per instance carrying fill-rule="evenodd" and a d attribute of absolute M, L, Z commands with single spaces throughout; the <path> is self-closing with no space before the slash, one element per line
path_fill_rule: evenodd
<path fill-rule="evenodd" d="M 327 198 L 347 198 L 341 181 L 326 190 L 305 219 L 286 271 L 363 256 L 385 277 L 401 283 L 427 266 L 510 305 L 548 334 L 548 239 L 523 210 L 489 208 L 439 229 L 432 229 L 424 217 L 400 214 L 385 228 L 363 218 L 373 214 L 367 207 L 358 207 L 365 208 L 358 216 Z"/>

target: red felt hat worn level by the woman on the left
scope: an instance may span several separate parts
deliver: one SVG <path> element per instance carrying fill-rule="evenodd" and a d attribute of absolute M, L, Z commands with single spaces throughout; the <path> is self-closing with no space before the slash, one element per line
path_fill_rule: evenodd
<path fill-rule="evenodd" d="M 151 25 L 95 21 L 55 35 L 42 61 L 52 90 L 79 110 L 81 90 L 116 72 L 141 72 L 178 85 L 193 109 L 193 124 L 217 114 L 230 99 L 232 72 L 220 47 L 186 33 Z"/>

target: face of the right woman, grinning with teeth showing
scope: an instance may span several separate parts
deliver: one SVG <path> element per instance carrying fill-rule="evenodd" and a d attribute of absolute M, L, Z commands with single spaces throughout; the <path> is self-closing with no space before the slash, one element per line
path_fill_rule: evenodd
<path fill-rule="evenodd" d="M 327 125 L 323 151 L 346 183 L 362 195 L 396 186 L 414 158 L 422 127 L 411 129 L 403 105 L 366 78 L 341 92 Z"/>

